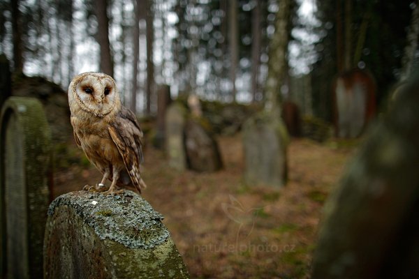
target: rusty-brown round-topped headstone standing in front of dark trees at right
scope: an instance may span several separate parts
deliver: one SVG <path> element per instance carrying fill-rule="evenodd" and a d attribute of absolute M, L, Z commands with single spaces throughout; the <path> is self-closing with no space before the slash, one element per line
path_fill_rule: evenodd
<path fill-rule="evenodd" d="M 337 136 L 358 137 L 375 113 L 372 76 L 361 70 L 351 70 L 337 77 L 335 109 Z"/>

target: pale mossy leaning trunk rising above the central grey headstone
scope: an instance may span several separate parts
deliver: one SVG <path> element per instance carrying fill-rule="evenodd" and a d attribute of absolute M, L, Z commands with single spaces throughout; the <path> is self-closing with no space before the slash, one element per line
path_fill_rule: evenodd
<path fill-rule="evenodd" d="M 281 85 L 286 75 L 288 50 L 288 17 L 290 13 L 290 0 L 279 1 L 279 10 L 275 20 L 275 32 L 269 44 L 269 61 L 267 82 L 265 87 L 265 109 L 279 113 L 281 102 Z"/>

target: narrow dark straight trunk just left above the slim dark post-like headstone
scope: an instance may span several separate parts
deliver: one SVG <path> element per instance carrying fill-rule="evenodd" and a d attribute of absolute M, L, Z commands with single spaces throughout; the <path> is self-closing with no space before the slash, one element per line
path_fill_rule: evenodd
<path fill-rule="evenodd" d="M 154 63 L 153 63 L 153 42 L 154 42 L 154 31 L 153 31 L 153 10 L 152 0 L 145 0 L 146 3 L 146 33 L 147 33 L 147 96 L 146 96 L 146 114 L 151 113 L 151 102 L 152 102 L 152 91 L 154 89 Z"/>

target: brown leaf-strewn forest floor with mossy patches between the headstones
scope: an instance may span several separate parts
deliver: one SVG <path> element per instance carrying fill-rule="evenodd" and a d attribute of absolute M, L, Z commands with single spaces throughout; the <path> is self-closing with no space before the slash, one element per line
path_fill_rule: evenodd
<path fill-rule="evenodd" d="M 217 140 L 224 168 L 214 173 L 179 173 L 145 150 L 143 197 L 165 216 L 191 278 L 309 278 L 323 204 L 355 145 L 293 140 L 277 189 L 244 185 L 240 134 Z M 56 173 L 54 196 L 100 179 L 94 167 L 70 167 Z"/>

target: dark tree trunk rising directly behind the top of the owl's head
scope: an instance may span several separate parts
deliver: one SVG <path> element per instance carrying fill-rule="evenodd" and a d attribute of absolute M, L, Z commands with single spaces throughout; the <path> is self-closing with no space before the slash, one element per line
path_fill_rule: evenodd
<path fill-rule="evenodd" d="M 101 72 L 113 76 L 113 63 L 109 43 L 108 1 L 94 0 L 98 21 L 97 41 L 101 48 Z"/>

